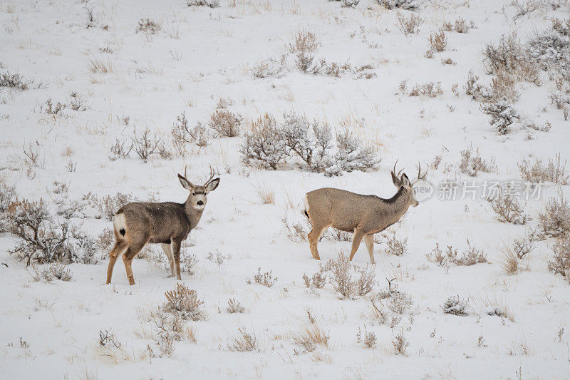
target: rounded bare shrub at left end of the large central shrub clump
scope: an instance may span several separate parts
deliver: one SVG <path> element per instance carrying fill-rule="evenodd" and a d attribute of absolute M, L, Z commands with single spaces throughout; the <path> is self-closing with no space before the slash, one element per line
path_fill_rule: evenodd
<path fill-rule="evenodd" d="M 245 134 L 240 152 L 246 165 L 256 163 L 277 169 L 286 156 L 286 146 L 273 116 L 266 113 L 254 121 L 252 130 Z"/>

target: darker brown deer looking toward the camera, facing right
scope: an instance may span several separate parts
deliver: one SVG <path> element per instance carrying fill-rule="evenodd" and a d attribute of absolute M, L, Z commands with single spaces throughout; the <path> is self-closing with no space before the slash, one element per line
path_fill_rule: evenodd
<path fill-rule="evenodd" d="M 186 202 L 130 202 L 120 207 L 113 218 L 115 227 L 115 246 L 110 252 L 107 269 L 107 284 L 111 283 L 113 267 L 119 255 L 123 255 L 129 284 L 135 284 L 131 263 L 147 243 L 160 243 L 162 250 L 170 262 L 172 277 L 180 278 L 180 245 L 190 230 L 198 224 L 207 195 L 216 190 L 219 178 L 214 178 L 214 170 L 210 167 L 210 177 L 204 185 L 194 185 L 186 178 L 178 175 L 182 187 L 190 191 Z M 176 269 L 176 270 L 175 270 Z"/>

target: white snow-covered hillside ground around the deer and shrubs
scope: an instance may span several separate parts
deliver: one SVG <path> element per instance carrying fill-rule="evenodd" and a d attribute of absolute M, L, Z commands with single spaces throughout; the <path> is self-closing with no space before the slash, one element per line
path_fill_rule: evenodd
<path fill-rule="evenodd" d="M 502 247 L 536 227 L 548 197 L 568 194 L 568 186 L 544 184 L 539 199 L 526 202 L 527 225 L 497 221 L 480 193 L 475 200 L 462 199 L 458 190 L 457 199 L 440 200 L 437 188 L 446 179 L 475 180 L 478 186 L 485 180 L 520 180 L 517 164 L 524 158 L 548 160 L 555 153 L 563 162 L 570 158 L 569 125 L 549 100 L 555 84 L 546 72 L 540 73 L 541 86 L 516 84 L 520 98 L 514 107 L 523 119 L 507 135 L 498 135 L 480 103 L 465 93 L 470 71 L 482 84 L 492 81 L 483 63 L 486 43 L 513 31 L 525 41 L 549 28 L 551 18 L 569 18 L 568 1 L 534 3 L 536 10 L 515 17 L 517 6 L 509 0 L 427 0 L 413 13 L 388 10 L 373 0 L 354 8 L 326 0 L 222 0 L 217 8 L 182 0 L 1 1 L 0 72 L 33 79 L 25 91 L 0 87 L 0 176 L 20 199 L 53 202 L 52 184 L 58 181 L 68 184 L 71 200 L 88 192 L 100 197 L 122 192 L 183 202 L 187 191 L 176 173 L 184 173 L 185 165 L 197 182 L 212 165 L 221 183 L 208 196 L 191 244 L 183 248 L 198 262 L 195 274 L 182 273 L 182 283 L 203 299 L 207 316 L 184 322 L 195 342 L 187 336 L 173 342 L 170 356 L 161 352 L 150 317 L 177 284 L 159 246 L 152 248 L 157 255 L 147 252 L 133 262 L 134 286 L 128 285 L 122 260 L 113 284 L 105 285 L 108 252 L 98 252 L 103 258 L 95 265 L 68 265 L 71 281 L 46 282 L 34 281 L 26 262 L 9 254 L 16 237 L 0 235 L 0 379 L 569 379 L 570 288 L 546 264 L 555 240 L 536 242 L 516 274 L 506 274 L 502 265 Z M 405 36 L 398 30 L 398 13 L 420 16 L 419 33 Z M 446 31 L 445 51 L 426 58 L 430 34 L 459 17 L 475 28 L 467 34 Z M 141 19 L 155 21 L 161 30 L 137 31 Z M 318 37 L 316 58 L 348 62 L 353 70 L 339 77 L 299 71 L 290 52 L 299 31 Z M 257 64 L 280 61 L 284 54 L 281 75 L 254 77 Z M 454 63 L 442 63 L 446 58 Z M 103 63 L 109 72 L 93 72 L 93 63 Z M 354 68 L 364 65 L 371 65 L 371 78 L 358 78 Z M 408 92 L 417 84 L 440 82 L 442 94 L 409 96 L 400 91 L 403 81 Z M 69 106 L 73 92 L 84 100 L 85 111 Z M 53 106 L 68 106 L 48 114 L 48 98 Z M 172 150 L 177 116 L 184 112 L 190 126 L 207 125 L 220 98 L 242 115 L 242 135 L 211 138 L 204 148 L 189 143 L 184 158 L 173 150 L 172 159 L 153 155 L 147 163 L 133 152 L 110 160 L 116 138 L 128 141 L 133 130 L 140 134 L 145 128 Z M 377 170 L 331 178 L 291 163 L 278 170 L 244 165 L 239 149 L 252 121 L 264 113 L 281 120 L 291 111 L 360 136 L 378 149 Z M 549 122 L 551 130 L 524 129 L 523 120 Z M 38 165 L 24 156 L 30 145 Z M 462 173 L 460 151 L 470 147 L 483 158 L 493 157 L 496 173 Z M 318 272 L 319 262 L 309 243 L 291 239 L 286 228 L 296 222 L 306 227 L 305 192 L 333 187 L 391 197 L 395 160 L 413 179 L 418 161 L 427 168 L 437 155 L 442 163 L 427 174 L 432 197 L 411 207 L 384 237 L 378 234 L 373 292 L 341 299 L 330 283 L 307 289 L 303 274 Z M 262 202 L 258 192 L 272 192 L 274 202 Z M 96 214 L 91 210 L 73 222 L 98 237 L 113 223 Z M 407 239 L 402 256 L 385 252 L 386 237 L 393 233 Z M 350 241 L 331 235 L 319 244 L 322 262 L 350 252 Z M 440 267 L 426 258 L 436 243 L 460 252 L 477 247 L 487 262 Z M 228 258 L 218 264 L 217 254 Z M 368 264 L 364 244 L 353 262 Z M 277 277 L 272 287 L 252 280 L 258 268 Z M 388 311 L 396 320 L 380 323 L 371 300 L 388 289 L 387 279 L 413 303 L 402 315 Z M 449 297 L 467 302 L 468 314 L 446 314 L 442 305 Z M 244 313 L 227 312 L 231 298 Z M 388 307 L 385 300 L 375 302 Z M 489 315 L 495 309 L 502 315 Z M 311 349 L 299 344 L 296 337 L 304 329 L 317 327 L 328 344 Z M 257 337 L 254 350 L 229 349 L 238 328 Z M 357 341 L 359 329 L 363 336 L 375 334 L 372 348 Z M 120 347 L 100 344 L 105 330 Z M 397 337 L 409 344 L 405 354 L 395 354 Z"/>

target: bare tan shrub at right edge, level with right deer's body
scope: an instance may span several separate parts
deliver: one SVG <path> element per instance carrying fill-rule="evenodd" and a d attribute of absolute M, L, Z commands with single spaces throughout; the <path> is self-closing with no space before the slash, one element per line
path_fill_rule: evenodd
<path fill-rule="evenodd" d="M 539 228 L 542 235 L 559 237 L 570 232 L 570 202 L 559 191 L 557 197 L 549 197 L 539 212 Z"/>

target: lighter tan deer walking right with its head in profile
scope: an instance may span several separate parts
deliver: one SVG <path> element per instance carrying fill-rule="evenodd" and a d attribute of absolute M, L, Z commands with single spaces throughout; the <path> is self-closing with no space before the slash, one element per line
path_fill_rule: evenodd
<path fill-rule="evenodd" d="M 391 172 L 392 182 L 398 188 L 398 192 L 389 199 L 334 188 L 322 188 L 306 193 L 304 212 L 313 226 L 308 237 L 314 259 L 321 260 L 317 250 L 318 239 L 328 227 L 332 226 L 337 230 L 354 233 L 349 260 L 352 260 L 364 238 L 370 262 L 374 264 L 374 234 L 398 222 L 410 205 L 418 206 L 413 183 L 410 183 L 405 174 L 400 177 L 402 170 L 398 174 L 395 170 L 394 164 Z M 425 175 L 427 170 L 421 175 L 418 164 L 418 180 L 423 180 Z"/>

